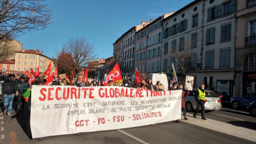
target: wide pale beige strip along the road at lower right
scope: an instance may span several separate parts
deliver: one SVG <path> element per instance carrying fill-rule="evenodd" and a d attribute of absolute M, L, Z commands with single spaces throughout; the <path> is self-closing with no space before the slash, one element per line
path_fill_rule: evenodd
<path fill-rule="evenodd" d="M 190 113 L 187 113 L 187 116 L 192 118 L 189 118 L 188 120 L 180 119 L 180 121 L 256 142 L 255 130 L 236 126 L 234 124 L 219 122 L 209 118 L 207 120 L 202 120 L 199 116 L 197 116 L 198 118 L 193 118 L 193 114 Z"/>

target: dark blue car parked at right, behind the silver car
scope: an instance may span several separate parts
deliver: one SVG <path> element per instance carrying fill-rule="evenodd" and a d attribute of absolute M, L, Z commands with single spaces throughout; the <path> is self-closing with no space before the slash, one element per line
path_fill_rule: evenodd
<path fill-rule="evenodd" d="M 234 109 L 237 109 L 239 107 L 246 108 L 251 102 L 256 102 L 256 92 L 245 95 L 244 97 L 231 98 L 229 104 Z"/>

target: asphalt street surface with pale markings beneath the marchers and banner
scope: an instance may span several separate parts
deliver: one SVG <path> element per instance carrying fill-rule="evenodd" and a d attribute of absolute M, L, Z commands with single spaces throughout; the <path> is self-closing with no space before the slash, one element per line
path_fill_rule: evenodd
<path fill-rule="evenodd" d="M 223 107 L 220 111 L 206 112 L 207 120 L 200 115 L 193 117 L 188 112 L 188 120 L 183 116 L 180 122 L 164 122 L 143 127 L 43 137 L 41 141 L 31 139 L 29 119 L 16 115 L 14 102 L 12 117 L 0 112 L 0 144 L 156 144 L 156 143 L 256 143 L 256 117 L 245 110 Z M 50 130 L 49 130 L 50 131 Z"/>

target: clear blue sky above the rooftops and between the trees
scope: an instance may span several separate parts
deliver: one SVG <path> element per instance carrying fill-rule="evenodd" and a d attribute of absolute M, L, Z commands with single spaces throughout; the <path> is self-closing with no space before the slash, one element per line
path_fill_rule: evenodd
<path fill-rule="evenodd" d="M 150 21 L 174 12 L 193 0 L 47 0 L 52 8 L 52 23 L 43 30 L 17 38 L 24 49 L 39 49 L 47 57 L 56 57 L 56 49 L 70 37 L 88 37 L 99 58 L 113 56 L 113 43 L 143 19 Z"/>

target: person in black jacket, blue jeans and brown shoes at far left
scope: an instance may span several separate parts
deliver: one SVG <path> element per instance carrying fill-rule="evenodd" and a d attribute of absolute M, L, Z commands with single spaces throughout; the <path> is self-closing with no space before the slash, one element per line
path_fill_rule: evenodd
<path fill-rule="evenodd" d="M 14 81 L 14 74 L 9 74 L 9 79 L 6 80 L 2 84 L 2 95 L 4 95 L 3 99 L 3 105 L 4 105 L 4 112 L 5 115 L 7 113 L 8 117 L 11 117 L 11 111 L 12 111 L 12 102 L 14 98 L 14 94 L 18 90 L 17 82 Z M 8 106 L 8 107 L 7 107 Z"/>

